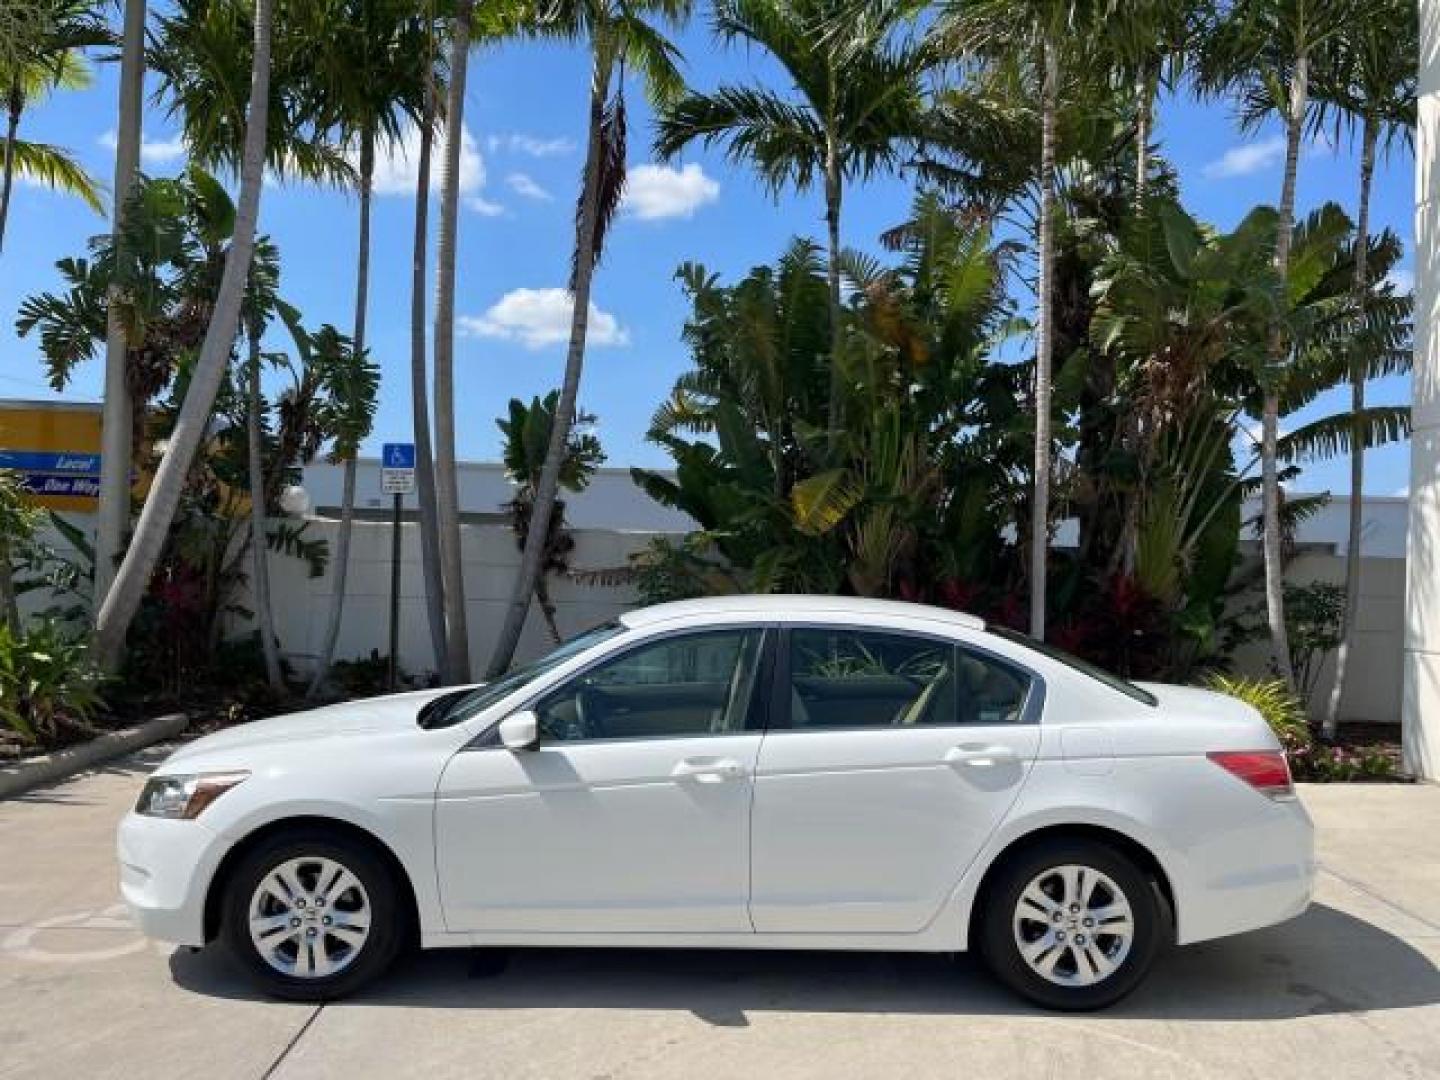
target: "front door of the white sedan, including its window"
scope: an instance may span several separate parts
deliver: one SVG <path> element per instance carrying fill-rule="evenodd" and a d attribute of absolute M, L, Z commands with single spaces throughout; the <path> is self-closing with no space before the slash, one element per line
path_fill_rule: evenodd
<path fill-rule="evenodd" d="M 448 927 L 750 932 L 762 636 L 641 642 L 536 704 L 539 749 L 455 755 L 435 811 Z"/>

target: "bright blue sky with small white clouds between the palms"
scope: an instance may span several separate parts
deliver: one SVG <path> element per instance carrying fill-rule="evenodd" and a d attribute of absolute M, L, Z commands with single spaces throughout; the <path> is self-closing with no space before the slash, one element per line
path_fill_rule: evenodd
<path fill-rule="evenodd" d="M 776 69 L 743 49 L 714 45 L 703 20 L 680 37 L 687 78 L 698 86 L 766 79 L 783 85 Z M 570 259 L 572 215 L 583 138 L 586 58 L 559 45 L 485 49 L 471 60 L 465 127 L 469 132 L 467 186 L 459 232 L 456 312 L 458 449 L 462 458 L 498 454 L 494 419 L 511 396 L 528 397 L 559 384 L 566 311 L 563 294 Z M 599 416 L 611 465 L 664 465 L 644 441 L 649 415 L 685 367 L 680 328 L 685 302 L 672 275 L 698 261 L 724 279 L 770 262 L 795 235 L 822 235 L 816 193 L 773 200 L 750 173 L 720 154 L 694 151 L 671 167 L 649 160 L 651 114 L 638 85 L 631 86 L 631 202 L 616 223 L 595 285 L 599 315 L 592 321 L 580 400 Z M 62 94 L 26 112 L 22 135 L 71 147 L 107 181 L 112 173 L 115 72 L 102 66 L 88 91 Z M 1283 147 L 1276 130 L 1237 131 L 1224 104 L 1166 101 L 1159 117 L 1162 153 L 1176 166 L 1188 209 L 1220 228 L 1233 226 L 1251 206 L 1279 196 Z M 183 164 L 173 124 L 156 109 L 145 115 L 151 174 Z M 1355 158 L 1349 147 L 1316 144 L 1300 167 L 1297 206 L 1305 212 L 1335 199 L 1354 207 Z M 389 183 L 386 180 L 389 179 Z M 1395 229 L 1405 242 L 1400 275 L 1413 264 L 1413 163 L 1407 151 L 1382 161 L 1375 181 L 1377 228 Z M 403 161 L 383 163 L 374 203 L 369 346 L 382 366 L 382 406 L 366 452 L 403 441 L 409 420 L 409 279 L 413 194 Z M 409 190 L 408 190 L 409 189 Z M 878 233 L 901 220 L 910 200 L 904 180 L 886 179 L 847 197 L 845 242 L 877 248 Z M 354 295 L 356 200 L 337 192 L 268 186 L 261 228 L 279 246 L 282 292 L 310 324 L 334 323 L 348 333 Z M 433 215 L 432 215 L 433 219 Z M 84 252 L 85 239 L 105 222 L 82 203 L 20 183 L 16 187 L 4 253 L 0 255 L 0 396 L 53 397 L 45 384 L 37 344 L 14 336 L 20 300 L 56 288 L 53 262 Z M 276 341 L 282 346 L 282 341 Z M 66 397 L 96 400 L 99 364 L 76 374 Z M 1408 380 L 1377 384 L 1375 403 L 1408 400 Z M 1339 408 L 1319 402 L 1305 416 Z M 1306 471 L 1303 487 L 1342 494 L 1344 461 Z M 1408 448 L 1369 454 L 1367 492 L 1392 495 L 1407 484 Z"/>

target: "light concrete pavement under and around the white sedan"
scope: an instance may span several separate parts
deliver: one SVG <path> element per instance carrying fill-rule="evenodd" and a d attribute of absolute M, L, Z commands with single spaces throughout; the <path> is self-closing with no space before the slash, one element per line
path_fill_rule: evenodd
<path fill-rule="evenodd" d="M 426 953 L 323 1008 L 141 939 L 114 825 L 158 753 L 0 802 L 0 1077 L 1440 1077 L 1440 788 L 1312 786 L 1318 903 L 1056 1017 L 973 962 Z"/>

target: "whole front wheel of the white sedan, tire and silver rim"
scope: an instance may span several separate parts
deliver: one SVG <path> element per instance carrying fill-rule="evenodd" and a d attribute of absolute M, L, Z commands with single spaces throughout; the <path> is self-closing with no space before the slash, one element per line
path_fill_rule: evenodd
<path fill-rule="evenodd" d="M 230 874 L 220 933 L 279 998 L 331 1001 L 380 975 L 403 940 L 395 876 L 364 844 L 281 834 Z"/>

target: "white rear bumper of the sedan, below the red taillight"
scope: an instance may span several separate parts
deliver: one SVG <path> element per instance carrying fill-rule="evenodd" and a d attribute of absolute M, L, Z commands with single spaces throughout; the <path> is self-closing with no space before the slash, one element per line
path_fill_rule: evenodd
<path fill-rule="evenodd" d="M 1315 825 L 1299 799 L 1274 802 L 1243 835 L 1192 851 L 1189 868 L 1181 945 L 1283 923 L 1310 906 Z"/>

